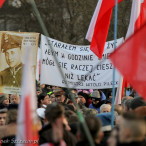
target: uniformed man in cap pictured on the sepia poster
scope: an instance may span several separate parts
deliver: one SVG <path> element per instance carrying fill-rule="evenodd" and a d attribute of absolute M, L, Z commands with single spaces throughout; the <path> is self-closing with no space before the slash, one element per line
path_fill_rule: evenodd
<path fill-rule="evenodd" d="M 8 68 L 0 72 L 0 86 L 21 87 L 22 67 L 21 43 L 22 37 L 4 33 L 1 50 L 5 53 Z"/>

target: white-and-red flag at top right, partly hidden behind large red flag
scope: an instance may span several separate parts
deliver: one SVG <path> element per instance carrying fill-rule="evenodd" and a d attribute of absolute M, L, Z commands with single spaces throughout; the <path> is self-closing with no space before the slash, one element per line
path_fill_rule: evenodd
<path fill-rule="evenodd" d="M 131 17 L 130 23 L 128 27 L 128 31 L 126 34 L 126 39 L 135 33 L 143 24 L 144 24 L 144 3 L 145 0 L 133 0 L 132 8 L 131 8 Z M 128 49 L 128 48 L 127 48 Z M 123 81 L 124 80 L 124 81 Z M 115 104 L 119 104 L 120 100 L 123 97 L 124 87 L 127 87 L 127 82 L 123 77 L 120 77 L 119 85 L 117 88 L 117 93 L 115 97 Z M 117 102 L 118 101 L 118 102 Z"/>

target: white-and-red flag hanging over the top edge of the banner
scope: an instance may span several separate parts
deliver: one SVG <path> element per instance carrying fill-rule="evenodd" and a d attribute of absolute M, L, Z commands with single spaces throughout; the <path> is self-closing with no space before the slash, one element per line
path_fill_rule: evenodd
<path fill-rule="evenodd" d="M 118 3 L 122 0 L 118 0 Z M 90 22 L 86 39 L 91 42 L 90 50 L 100 59 L 104 52 L 112 9 L 115 6 L 115 0 L 99 0 Z"/>

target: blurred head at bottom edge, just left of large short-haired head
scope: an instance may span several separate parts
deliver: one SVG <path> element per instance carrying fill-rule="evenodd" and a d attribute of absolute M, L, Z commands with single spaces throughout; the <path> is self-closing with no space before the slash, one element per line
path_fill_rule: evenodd
<path fill-rule="evenodd" d="M 110 136 L 108 137 L 107 140 L 107 145 L 108 146 L 117 146 L 118 143 L 118 132 L 119 132 L 119 128 L 118 127 L 114 127 L 111 131 Z"/>

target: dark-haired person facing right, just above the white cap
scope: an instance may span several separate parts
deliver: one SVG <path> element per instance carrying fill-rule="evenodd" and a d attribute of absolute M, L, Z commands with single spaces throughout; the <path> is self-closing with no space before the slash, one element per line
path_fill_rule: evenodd
<path fill-rule="evenodd" d="M 47 93 L 41 93 L 38 96 L 38 107 L 39 108 L 46 108 L 48 104 L 51 104 L 51 100 Z"/>

